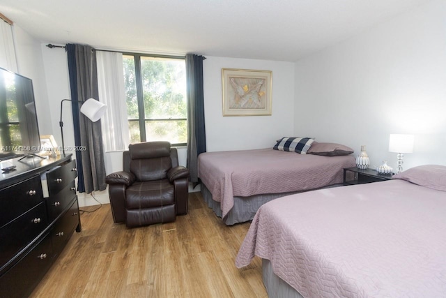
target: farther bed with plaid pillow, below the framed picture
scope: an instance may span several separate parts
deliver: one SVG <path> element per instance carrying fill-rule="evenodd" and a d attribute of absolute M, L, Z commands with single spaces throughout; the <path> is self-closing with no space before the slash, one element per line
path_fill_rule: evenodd
<path fill-rule="evenodd" d="M 286 151 L 287 140 L 277 140 L 274 148 L 199 155 L 203 199 L 223 223 L 250 221 L 262 204 L 284 195 L 339 185 L 343 168 L 355 166 L 350 147 L 311 142 L 295 151 L 290 142 L 293 151 Z"/>

